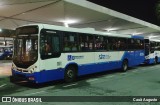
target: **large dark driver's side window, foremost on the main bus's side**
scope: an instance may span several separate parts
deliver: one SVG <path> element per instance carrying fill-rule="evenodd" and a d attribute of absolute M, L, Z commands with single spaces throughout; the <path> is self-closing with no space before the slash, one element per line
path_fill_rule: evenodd
<path fill-rule="evenodd" d="M 42 59 L 60 56 L 60 37 L 58 31 L 44 30 L 40 38 L 40 53 Z"/>

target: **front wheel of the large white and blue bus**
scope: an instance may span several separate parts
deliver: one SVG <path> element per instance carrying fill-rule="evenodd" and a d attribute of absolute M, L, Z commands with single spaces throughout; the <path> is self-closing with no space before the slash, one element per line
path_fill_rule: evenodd
<path fill-rule="evenodd" d="M 77 76 L 76 68 L 74 66 L 69 66 L 65 70 L 64 80 L 65 82 L 75 81 Z"/>

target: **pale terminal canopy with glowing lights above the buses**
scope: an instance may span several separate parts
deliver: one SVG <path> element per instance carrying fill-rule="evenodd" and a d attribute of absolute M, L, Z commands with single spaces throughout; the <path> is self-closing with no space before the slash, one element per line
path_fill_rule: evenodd
<path fill-rule="evenodd" d="M 160 38 L 160 27 L 86 0 L 0 0 L 0 28 L 44 23 Z"/>

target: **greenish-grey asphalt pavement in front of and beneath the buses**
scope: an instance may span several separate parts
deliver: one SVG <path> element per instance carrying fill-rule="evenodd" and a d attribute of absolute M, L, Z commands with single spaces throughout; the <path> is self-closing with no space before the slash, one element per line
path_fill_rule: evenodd
<path fill-rule="evenodd" d="M 11 66 L 8 62 L 6 67 Z M 0 65 L 2 67 L 2 65 Z M 4 65 L 3 65 L 4 67 Z M 1 69 L 0 69 L 1 70 Z M 8 69 L 9 71 L 9 69 Z M 76 82 L 65 83 L 53 81 L 41 85 L 35 85 L 26 81 L 11 83 L 9 76 L 0 78 L 1 96 L 61 96 L 60 98 L 76 99 L 77 96 L 85 98 L 90 96 L 160 96 L 160 64 L 141 65 L 131 68 L 127 72 L 103 72 L 98 74 L 79 77 Z M 67 96 L 67 97 L 66 97 Z M 93 96 L 93 97 L 92 97 Z M 86 97 L 86 98 L 87 98 Z M 53 97 L 52 97 L 53 98 Z M 126 99 L 127 100 L 127 99 Z M 58 100 L 57 100 L 58 101 Z M 73 101 L 73 100 L 72 100 Z M 82 102 L 49 102 L 51 105 L 82 105 Z M 97 101 L 97 102 L 96 102 Z M 1 103 L 0 103 L 1 104 Z M 9 103 L 3 103 L 3 105 Z M 14 103 L 13 103 L 14 104 Z M 27 103 L 23 103 L 27 104 Z M 33 103 L 44 104 L 44 103 Z M 83 105 L 160 105 L 159 102 L 83 102 Z"/>

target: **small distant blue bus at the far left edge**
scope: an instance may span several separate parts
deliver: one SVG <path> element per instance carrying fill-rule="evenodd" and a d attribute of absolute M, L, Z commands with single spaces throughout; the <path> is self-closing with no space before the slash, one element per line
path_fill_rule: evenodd
<path fill-rule="evenodd" d="M 13 54 L 13 46 L 0 46 L 0 60 L 11 60 Z"/>

